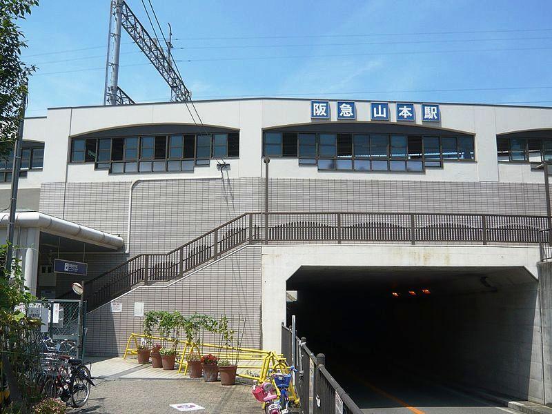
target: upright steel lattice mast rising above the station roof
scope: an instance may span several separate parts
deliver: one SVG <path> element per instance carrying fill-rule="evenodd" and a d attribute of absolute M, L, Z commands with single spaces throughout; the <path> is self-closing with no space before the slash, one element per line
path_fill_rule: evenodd
<path fill-rule="evenodd" d="M 106 98 L 108 105 L 117 105 L 117 90 L 119 89 L 119 55 L 121 52 L 121 27 L 122 27 L 123 0 L 112 0 L 110 8 L 109 37 L 108 37 L 108 62 L 106 66 Z M 115 15 L 115 31 L 112 31 L 112 16 Z M 111 43 L 113 48 L 111 50 Z M 110 75 L 108 75 L 110 72 Z M 108 84 L 109 83 L 109 84 Z"/>

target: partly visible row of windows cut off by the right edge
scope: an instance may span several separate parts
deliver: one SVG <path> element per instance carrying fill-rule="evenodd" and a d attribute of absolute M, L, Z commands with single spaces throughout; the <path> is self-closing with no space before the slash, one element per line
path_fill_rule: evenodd
<path fill-rule="evenodd" d="M 552 161 L 552 139 L 497 138 L 497 157 L 501 162 Z"/>

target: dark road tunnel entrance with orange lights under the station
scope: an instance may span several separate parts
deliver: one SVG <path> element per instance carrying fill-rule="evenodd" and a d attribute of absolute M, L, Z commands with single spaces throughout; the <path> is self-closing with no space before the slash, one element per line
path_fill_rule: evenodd
<path fill-rule="evenodd" d="M 444 386 L 542 394 L 538 283 L 523 267 L 302 266 L 287 289 L 288 324 L 361 408 L 482 404 Z"/>

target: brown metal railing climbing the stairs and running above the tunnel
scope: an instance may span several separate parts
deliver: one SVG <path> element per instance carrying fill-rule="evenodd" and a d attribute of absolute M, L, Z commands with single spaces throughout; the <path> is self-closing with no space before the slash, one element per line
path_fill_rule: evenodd
<path fill-rule="evenodd" d="M 86 282 L 88 311 L 137 284 L 168 282 L 245 244 L 268 242 L 539 244 L 546 216 L 440 213 L 244 213 L 165 254 L 142 254 Z M 268 232 L 265 232 L 268 228 Z M 64 295 L 65 296 L 65 295 Z"/>

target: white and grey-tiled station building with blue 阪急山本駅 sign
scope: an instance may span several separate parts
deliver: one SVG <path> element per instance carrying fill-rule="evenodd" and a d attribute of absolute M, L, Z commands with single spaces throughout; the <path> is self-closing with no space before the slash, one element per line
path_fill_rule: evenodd
<path fill-rule="evenodd" d="M 239 317 L 244 345 L 275 350 L 294 313 L 311 348 L 339 342 L 552 400 L 552 108 L 50 108 L 26 119 L 23 139 L 15 242 L 26 283 L 71 297 L 84 280 L 89 354 L 124 351 L 141 304 Z M 0 164 L 6 206 L 10 166 Z M 87 275 L 56 273 L 55 259 L 86 263 Z"/>

